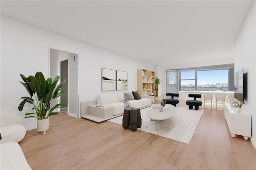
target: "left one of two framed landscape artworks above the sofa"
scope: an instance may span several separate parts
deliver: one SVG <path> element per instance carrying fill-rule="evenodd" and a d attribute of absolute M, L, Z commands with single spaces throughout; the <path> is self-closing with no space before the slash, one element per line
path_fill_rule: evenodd
<path fill-rule="evenodd" d="M 102 68 L 102 91 L 116 90 L 116 70 Z"/>

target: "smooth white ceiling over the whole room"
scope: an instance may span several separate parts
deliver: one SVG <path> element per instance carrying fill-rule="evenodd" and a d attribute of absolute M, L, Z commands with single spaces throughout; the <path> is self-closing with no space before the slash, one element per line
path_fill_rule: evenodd
<path fill-rule="evenodd" d="M 170 65 L 234 44 L 251 4 L 1 0 L 1 14 L 153 65 Z"/>

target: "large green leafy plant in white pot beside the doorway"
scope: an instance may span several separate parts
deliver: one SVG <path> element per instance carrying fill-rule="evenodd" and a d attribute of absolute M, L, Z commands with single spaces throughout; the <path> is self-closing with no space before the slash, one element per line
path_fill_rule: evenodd
<path fill-rule="evenodd" d="M 58 115 L 58 112 L 55 112 L 55 109 L 60 109 L 61 107 L 66 107 L 62 103 L 59 103 L 50 109 L 50 103 L 53 99 L 64 95 L 65 92 L 59 92 L 63 83 L 60 83 L 57 87 L 57 83 L 60 79 L 60 76 L 56 76 L 52 81 L 51 78 L 45 80 L 42 72 L 37 72 L 35 76 L 30 75 L 25 77 L 20 74 L 23 82 L 22 85 L 28 91 L 30 97 L 22 97 L 23 101 L 18 106 L 19 111 L 23 110 L 25 103 L 30 103 L 35 109 L 35 113 L 25 113 L 25 118 L 35 117 L 38 119 L 38 131 L 41 131 L 43 134 L 46 133 L 46 130 L 49 129 L 49 117 L 51 115 Z M 55 88 L 56 87 L 56 88 Z M 32 99 L 34 95 L 34 99 Z M 34 116 L 35 115 L 35 116 Z M 43 121 L 42 121 L 43 120 Z M 44 122 L 44 123 L 41 123 Z M 44 124 L 44 125 L 41 125 Z"/>

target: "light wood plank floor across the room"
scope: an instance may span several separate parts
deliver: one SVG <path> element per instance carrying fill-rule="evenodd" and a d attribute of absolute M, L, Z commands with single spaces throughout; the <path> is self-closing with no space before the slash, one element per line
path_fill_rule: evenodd
<path fill-rule="evenodd" d="M 50 117 L 50 132 L 30 130 L 19 144 L 32 170 L 256 169 L 254 146 L 232 138 L 224 111 L 211 109 L 204 109 L 190 144 L 64 113 Z"/>

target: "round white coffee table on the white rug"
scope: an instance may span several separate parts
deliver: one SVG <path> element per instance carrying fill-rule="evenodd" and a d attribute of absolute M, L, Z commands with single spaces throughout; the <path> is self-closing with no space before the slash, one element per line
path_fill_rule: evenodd
<path fill-rule="evenodd" d="M 165 119 L 168 119 L 176 114 L 176 107 L 173 105 L 166 104 L 166 108 L 162 112 L 159 110 L 159 106 L 154 106 L 147 112 L 148 117 L 150 118 L 150 121 L 162 121 Z"/>

